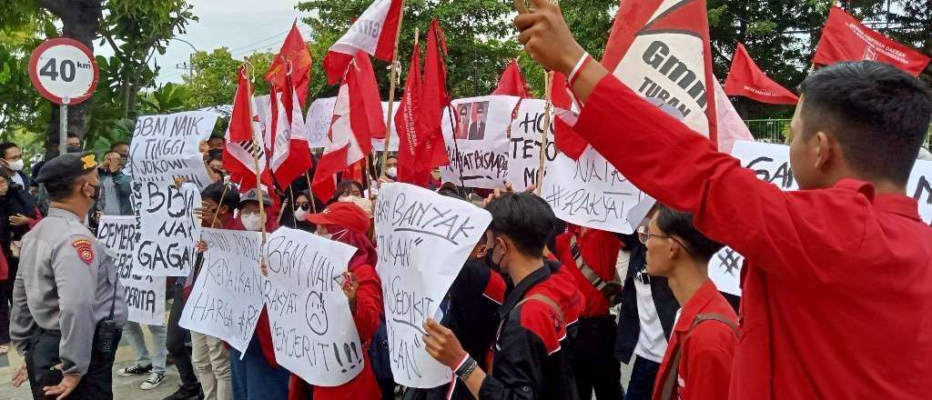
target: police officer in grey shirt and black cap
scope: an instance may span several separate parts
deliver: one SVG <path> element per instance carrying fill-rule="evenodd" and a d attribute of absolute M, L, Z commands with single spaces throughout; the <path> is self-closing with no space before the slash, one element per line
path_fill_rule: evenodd
<path fill-rule="evenodd" d="M 37 177 L 48 189 L 48 217 L 22 238 L 10 337 L 35 399 L 113 398 L 112 367 L 127 306 L 114 260 L 85 224 L 100 194 L 97 161 L 66 153 Z"/>

